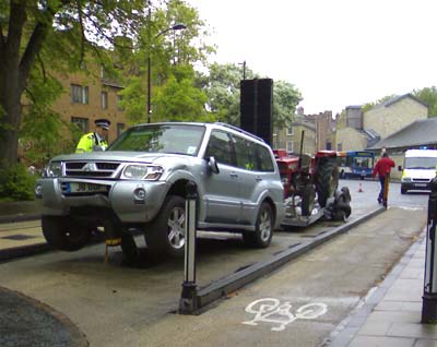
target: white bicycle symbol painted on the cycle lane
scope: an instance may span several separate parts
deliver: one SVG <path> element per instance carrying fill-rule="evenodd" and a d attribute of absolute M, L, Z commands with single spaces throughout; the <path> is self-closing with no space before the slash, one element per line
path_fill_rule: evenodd
<path fill-rule="evenodd" d="M 255 314 L 250 321 L 245 321 L 243 324 L 258 325 L 259 322 L 275 323 L 271 330 L 274 332 L 281 332 L 285 330 L 286 325 L 296 320 L 314 320 L 320 315 L 323 315 L 328 311 L 328 307 L 324 303 L 308 303 L 299 307 L 294 314 L 292 311 L 292 304 L 290 301 L 281 301 L 274 298 L 264 298 L 256 300 L 249 303 L 246 312 Z"/>

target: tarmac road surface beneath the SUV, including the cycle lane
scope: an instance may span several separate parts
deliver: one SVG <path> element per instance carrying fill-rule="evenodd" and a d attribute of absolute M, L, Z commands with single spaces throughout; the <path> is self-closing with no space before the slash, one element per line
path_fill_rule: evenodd
<path fill-rule="evenodd" d="M 368 207 L 365 201 L 374 196 L 376 183 L 365 182 L 367 194 L 356 194 L 356 187 L 351 188 L 355 213 Z M 422 195 L 418 200 L 422 208 L 420 203 L 411 204 L 414 208 L 390 208 L 272 276 L 238 290 L 231 300 L 214 304 L 199 316 L 170 313 L 178 304 L 181 288 L 180 263 L 129 268 L 120 266 L 121 254 L 113 251 L 109 264 L 104 264 L 102 244 L 75 253 L 51 252 L 1 264 L 0 286 L 24 292 L 63 313 L 92 346 L 317 346 L 422 231 L 426 199 Z M 272 248 L 264 251 L 245 249 L 238 240 L 204 240 L 198 263 L 200 284 L 273 254 L 287 242 L 296 242 L 295 238 L 314 237 L 318 229 L 329 227 L 332 226 L 318 225 L 297 235 L 281 232 Z M 274 298 L 285 307 L 283 312 L 273 313 L 270 322 L 264 319 L 255 325 L 255 314 L 245 308 L 263 298 Z M 290 322 L 282 332 L 271 330 L 284 322 L 284 316 L 287 322 L 286 316 L 310 303 L 324 304 L 327 312 L 316 319 Z M 290 304 L 292 309 L 287 309 Z"/>

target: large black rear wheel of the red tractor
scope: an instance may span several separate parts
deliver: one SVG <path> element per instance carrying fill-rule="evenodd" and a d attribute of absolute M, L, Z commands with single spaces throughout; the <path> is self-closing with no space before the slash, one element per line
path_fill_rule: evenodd
<path fill-rule="evenodd" d="M 328 198 L 333 196 L 339 187 L 339 167 L 336 158 L 320 158 L 316 175 L 317 200 L 321 207 Z"/>

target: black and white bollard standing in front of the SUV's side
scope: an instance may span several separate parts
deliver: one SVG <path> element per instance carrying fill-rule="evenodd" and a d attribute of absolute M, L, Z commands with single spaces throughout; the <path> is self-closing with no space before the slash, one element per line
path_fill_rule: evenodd
<path fill-rule="evenodd" d="M 196 285 L 196 202 L 198 189 L 194 182 L 186 186 L 185 208 L 185 267 L 179 313 L 188 314 L 198 309 Z"/>

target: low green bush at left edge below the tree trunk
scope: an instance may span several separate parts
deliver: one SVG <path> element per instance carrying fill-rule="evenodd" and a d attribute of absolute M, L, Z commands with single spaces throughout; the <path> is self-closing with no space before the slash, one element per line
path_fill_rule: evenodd
<path fill-rule="evenodd" d="M 23 164 L 0 167 L 0 198 L 19 200 L 33 200 L 36 177 L 27 172 Z"/>

